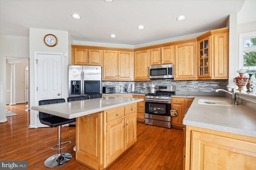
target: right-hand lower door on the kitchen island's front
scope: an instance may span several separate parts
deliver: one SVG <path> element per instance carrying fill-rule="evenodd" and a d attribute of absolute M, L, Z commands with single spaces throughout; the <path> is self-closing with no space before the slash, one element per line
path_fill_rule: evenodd
<path fill-rule="evenodd" d="M 132 114 L 124 118 L 125 123 L 125 137 L 124 137 L 124 149 L 129 148 L 137 141 L 137 116 Z"/>

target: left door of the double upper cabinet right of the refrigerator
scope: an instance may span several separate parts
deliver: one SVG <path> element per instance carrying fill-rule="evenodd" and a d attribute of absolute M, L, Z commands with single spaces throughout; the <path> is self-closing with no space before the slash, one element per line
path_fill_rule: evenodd
<path fill-rule="evenodd" d="M 118 74 L 118 52 L 104 50 L 103 53 L 103 80 L 116 80 Z"/>

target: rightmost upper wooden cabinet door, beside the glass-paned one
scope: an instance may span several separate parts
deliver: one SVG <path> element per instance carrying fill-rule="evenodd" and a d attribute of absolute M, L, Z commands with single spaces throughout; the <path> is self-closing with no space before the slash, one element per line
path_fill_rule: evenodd
<path fill-rule="evenodd" d="M 212 79 L 228 79 L 228 33 L 212 35 Z"/>

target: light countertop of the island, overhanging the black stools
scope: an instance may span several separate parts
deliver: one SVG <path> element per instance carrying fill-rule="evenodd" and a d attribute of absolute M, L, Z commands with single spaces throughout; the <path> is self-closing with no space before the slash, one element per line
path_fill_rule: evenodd
<path fill-rule="evenodd" d="M 96 98 L 90 100 L 79 100 L 74 102 L 65 102 L 57 104 L 47 104 L 41 106 L 33 106 L 31 109 L 49 113 L 52 115 L 72 119 L 99 111 L 112 109 L 115 107 L 125 106 L 141 102 L 143 99 L 138 98 Z"/>

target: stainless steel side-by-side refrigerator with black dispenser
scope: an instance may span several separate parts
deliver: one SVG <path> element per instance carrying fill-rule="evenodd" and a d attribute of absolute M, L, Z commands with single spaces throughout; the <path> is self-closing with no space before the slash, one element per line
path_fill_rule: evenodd
<path fill-rule="evenodd" d="M 68 97 L 101 93 L 101 66 L 68 66 Z"/>

